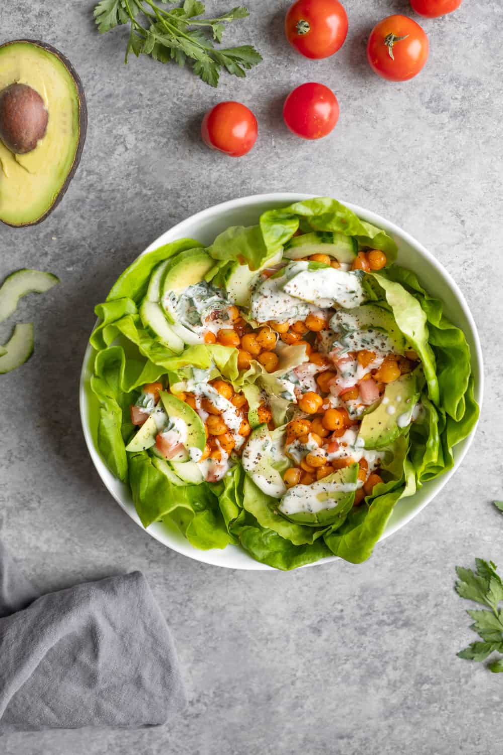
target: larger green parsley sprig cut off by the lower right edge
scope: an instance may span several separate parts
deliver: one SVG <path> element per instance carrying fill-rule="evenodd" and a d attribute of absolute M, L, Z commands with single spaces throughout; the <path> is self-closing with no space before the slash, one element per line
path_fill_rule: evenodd
<path fill-rule="evenodd" d="M 456 566 L 459 581 L 455 583 L 455 590 L 462 598 L 486 607 L 482 611 L 467 611 L 474 619 L 470 628 L 477 632 L 481 641 L 471 643 L 458 655 L 468 661 L 485 661 L 493 652 L 503 654 L 503 609 L 499 608 L 503 601 L 503 583 L 496 573 L 498 567 L 495 563 L 475 559 L 475 564 L 476 572 Z M 503 671 L 503 657 L 492 661 L 488 667 L 494 673 Z"/>

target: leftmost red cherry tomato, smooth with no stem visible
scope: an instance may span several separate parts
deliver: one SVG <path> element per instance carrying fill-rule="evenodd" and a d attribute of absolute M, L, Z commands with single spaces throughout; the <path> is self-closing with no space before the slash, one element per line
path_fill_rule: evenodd
<path fill-rule="evenodd" d="M 201 124 L 204 143 L 231 157 L 250 152 L 257 131 L 256 117 L 241 102 L 218 103 L 208 110 Z"/>

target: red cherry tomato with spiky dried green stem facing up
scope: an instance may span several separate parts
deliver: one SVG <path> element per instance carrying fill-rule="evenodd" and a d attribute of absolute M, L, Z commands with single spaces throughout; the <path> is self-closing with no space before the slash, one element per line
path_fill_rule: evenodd
<path fill-rule="evenodd" d="M 388 16 L 370 32 L 367 60 L 383 79 L 405 82 L 425 65 L 429 48 L 419 23 L 406 16 Z"/>

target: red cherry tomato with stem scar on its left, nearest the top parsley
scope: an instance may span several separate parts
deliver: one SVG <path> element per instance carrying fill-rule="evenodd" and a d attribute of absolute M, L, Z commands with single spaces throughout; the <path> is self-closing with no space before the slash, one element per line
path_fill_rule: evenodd
<path fill-rule="evenodd" d="M 297 0 L 287 11 L 287 40 L 304 57 L 333 55 L 347 33 L 348 17 L 339 0 Z"/>

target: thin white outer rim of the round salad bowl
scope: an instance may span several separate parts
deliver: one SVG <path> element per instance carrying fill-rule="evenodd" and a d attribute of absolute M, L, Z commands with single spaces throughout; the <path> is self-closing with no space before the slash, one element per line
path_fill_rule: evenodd
<path fill-rule="evenodd" d="M 177 238 L 181 239 L 185 236 L 184 230 L 186 227 L 192 226 L 194 223 L 200 223 L 203 220 L 206 220 L 207 218 L 213 217 L 215 215 L 219 215 L 222 213 L 225 213 L 227 210 L 235 210 L 240 207 L 247 207 L 248 205 L 265 205 L 265 204 L 292 204 L 293 202 L 302 202 L 305 199 L 315 199 L 317 197 L 321 196 L 327 196 L 322 194 L 304 194 L 304 193 L 294 193 L 294 192 L 272 192 L 272 193 L 262 193 L 262 194 L 252 194 L 249 196 L 244 197 L 238 197 L 237 199 L 228 199 L 225 202 L 219 202 L 217 205 L 211 205 L 210 207 L 205 208 L 204 210 L 198 211 L 195 214 L 190 215 L 189 217 L 186 217 L 184 220 L 181 220 L 179 223 L 176 223 L 174 226 L 170 227 L 163 233 L 161 233 L 160 236 L 158 236 L 157 239 L 152 241 L 140 254 L 136 255 L 136 257 L 131 260 L 130 264 L 133 263 L 135 260 L 137 260 L 139 257 L 143 257 L 144 254 L 147 254 L 149 251 L 152 251 L 152 249 L 158 248 L 161 244 L 169 243 L 167 242 L 164 237 L 167 236 L 167 234 L 173 235 L 173 238 L 170 239 L 170 241 L 174 241 Z M 449 287 L 452 290 L 452 293 L 455 294 L 455 299 L 457 300 L 459 306 L 461 307 L 462 313 L 465 316 L 466 321 L 468 322 L 468 325 L 471 329 L 471 335 L 473 337 L 474 346 L 475 346 L 475 353 L 471 353 L 471 363 L 472 363 L 472 371 L 477 371 L 477 380 L 474 381 L 474 398 L 477 401 L 480 408 L 482 408 L 482 402 L 483 402 L 483 387 L 484 387 L 484 370 L 483 370 L 483 353 L 482 353 L 482 347 L 480 344 L 480 337 L 477 331 L 477 325 L 475 324 L 474 317 L 471 314 L 471 310 L 468 307 L 467 301 L 465 300 L 465 296 L 462 293 L 461 289 L 455 282 L 455 280 L 452 278 L 448 270 L 446 270 L 445 267 L 437 260 L 436 257 L 434 257 L 434 254 L 432 254 L 428 249 L 425 248 L 425 246 L 422 245 L 417 239 L 415 239 L 413 236 L 411 236 L 409 233 L 404 231 L 400 226 L 397 226 L 396 223 L 393 223 L 391 220 L 386 220 L 381 215 L 367 210 L 366 208 L 360 207 L 360 205 L 354 205 L 352 202 L 345 202 L 344 200 L 338 200 L 341 202 L 342 205 L 345 205 L 349 209 L 351 209 L 354 213 L 358 215 L 358 217 L 363 218 L 364 220 L 367 220 L 367 222 L 372 223 L 373 225 L 376 225 L 378 227 L 384 227 L 388 232 L 391 232 L 397 236 L 400 237 L 400 239 L 403 239 L 407 244 L 415 248 L 419 253 L 422 255 L 422 257 L 425 257 L 426 260 L 428 260 L 428 263 L 430 263 L 431 267 L 436 270 L 437 273 L 439 273 L 440 277 L 443 277 L 443 279 L 446 279 L 446 281 L 449 283 Z M 193 232 L 192 234 L 193 235 Z M 94 325 L 96 327 L 96 323 Z M 94 330 L 94 328 L 93 328 Z M 92 332 L 92 331 L 91 331 Z M 82 362 L 82 368 L 81 368 L 81 377 L 80 377 L 80 384 L 79 384 L 79 410 L 80 410 L 80 418 L 81 418 L 81 427 L 82 432 L 84 433 L 84 439 L 87 445 L 87 450 L 89 451 L 90 458 L 93 461 L 94 467 L 97 470 L 98 475 L 100 476 L 101 481 L 103 482 L 103 485 L 105 485 L 106 489 L 109 491 L 110 495 L 112 495 L 112 498 L 115 499 L 115 501 L 119 504 L 119 506 L 127 513 L 127 516 L 130 516 L 131 519 L 133 519 L 134 522 L 136 522 L 137 525 L 139 525 L 148 535 L 155 538 L 155 540 L 158 540 L 164 546 L 169 547 L 171 550 L 175 550 L 177 553 L 181 553 L 183 556 L 188 556 L 189 558 L 195 559 L 196 561 L 203 562 L 209 565 L 218 565 L 220 567 L 223 567 L 225 569 L 243 569 L 244 571 L 273 571 L 277 572 L 278 569 L 275 569 L 273 566 L 269 566 L 267 564 L 263 564 L 262 562 L 256 561 L 252 558 L 252 556 L 248 556 L 250 559 L 250 563 L 246 562 L 247 565 L 235 565 L 232 563 L 220 563 L 216 562 L 213 558 L 209 556 L 210 553 L 214 553 L 216 550 L 219 549 L 213 549 L 213 550 L 198 550 L 195 547 L 193 547 L 189 541 L 186 541 L 186 547 L 181 547 L 179 544 L 172 544 L 167 543 L 165 541 L 165 538 L 161 538 L 160 533 L 155 532 L 155 530 L 152 530 L 151 527 L 145 529 L 140 522 L 140 518 L 136 514 L 136 511 L 130 510 L 130 508 L 127 507 L 126 504 L 124 504 L 123 501 L 121 501 L 120 496 L 116 495 L 115 491 L 112 490 L 112 488 L 109 486 L 109 484 L 106 482 L 106 479 L 104 479 L 102 470 L 105 471 L 105 473 L 108 473 L 109 470 L 107 470 L 106 465 L 104 464 L 102 458 L 100 457 L 99 452 L 97 451 L 97 448 L 94 445 L 94 441 L 90 432 L 90 423 L 87 418 L 87 387 L 86 383 L 88 380 L 87 376 L 87 370 L 88 370 L 88 362 L 90 359 L 91 354 L 93 353 L 93 349 L 90 346 L 90 344 L 87 342 L 87 347 L 84 352 L 84 359 Z M 474 369 L 475 368 L 475 369 Z M 405 516 L 400 519 L 399 522 L 396 522 L 394 525 L 386 525 L 385 532 L 383 532 L 381 538 L 379 538 L 378 543 L 376 543 L 376 546 L 379 545 L 383 540 L 388 538 L 390 535 L 394 535 L 395 532 L 397 532 L 399 529 L 402 529 L 406 524 L 410 522 L 411 519 L 413 519 L 415 516 L 417 516 L 433 499 L 440 493 L 442 488 L 449 482 L 449 479 L 451 479 L 452 475 L 458 470 L 459 466 L 462 464 L 462 461 L 464 460 L 465 456 L 468 453 L 468 449 L 471 447 L 471 444 L 473 442 L 475 433 L 477 432 L 479 419 L 477 419 L 477 423 L 474 425 L 473 430 L 471 430 L 471 433 L 463 439 L 462 443 L 459 445 L 462 445 L 462 448 L 459 449 L 456 458 L 454 460 L 454 463 L 452 464 L 452 468 L 450 470 L 447 470 L 445 473 L 443 473 L 440 477 L 435 479 L 435 487 L 434 490 L 431 492 L 431 494 L 425 496 L 425 499 L 421 501 L 419 504 L 416 505 L 416 507 L 413 508 L 413 510 L 409 511 L 409 513 L 406 513 Z M 459 448 L 459 446 L 458 446 Z M 433 482 L 433 481 L 432 481 Z M 410 500 L 412 500 L 413 497 L 411 497 Z M 231 546 L 228 546 L 226 549 L 223 549 L 222 551 L 219 550 L 219 553 L 225 553 L 225 550 L 228 550 L 228 548 Z M 235 546 L 241 549 L 240 546 Z M 246 553 L 246 552 L 244 552 Z M 320 559 L 319 561 L 315 561 L 310 564 L 305 564 L 302 568 L 307 568 L 308 566 L 316 566 L 321 565 L 325 563 L 330 563 L 333 561 L 339 561 L 339 556 L 327 556 L 327 558 Z"/>

